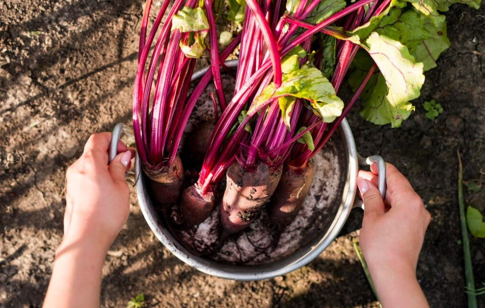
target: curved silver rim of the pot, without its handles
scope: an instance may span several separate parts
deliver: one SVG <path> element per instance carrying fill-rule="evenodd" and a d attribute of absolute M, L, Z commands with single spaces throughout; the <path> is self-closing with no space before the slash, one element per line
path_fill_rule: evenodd
<path fill-rule="evenodd" d="M 308 264 L 322 253 L 342 230 L 353 208 L 358 172 L 357 151 L 354 136 L 346 119 L 343 119 L 340 124 L 339 131 L 342 139 L 345 141 L 345 148 L 348 153 L 348 170 L 343 188 L 342 202 L 336 216 L 323 236 L 312 240 L 289 256 L 276 260 L 275 262 L 250 266 L 232 265 L 203 258 L 187 250 L 160 221 L 158 213 L 155 211 L 150 200 L 148 188 L 145 184 L 145 176 L 141 170 L 140 159 L 138 154 L 136 154 L 136 193 L 140 209 L 151 231 L 153 231 L 158 240 L 177 258 L 196 270 L 219 278 L 237 281 L 262 280 L 287 274 Z"/>

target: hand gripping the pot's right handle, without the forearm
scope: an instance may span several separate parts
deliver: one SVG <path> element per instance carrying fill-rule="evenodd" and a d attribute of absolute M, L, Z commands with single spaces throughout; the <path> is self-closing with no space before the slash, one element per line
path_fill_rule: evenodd
<path fill-rule="evenodd" d="M 371 166 L 373 171 L 376 167 Z M 359 171 L 357 185 L 365 204 L 360 247 L 370 270 L 395 269 L 415 275 L 430 215 L 406 177 L 389 163 L 386 171 L 385 200 L 376 187 L 377 175 Z"/>

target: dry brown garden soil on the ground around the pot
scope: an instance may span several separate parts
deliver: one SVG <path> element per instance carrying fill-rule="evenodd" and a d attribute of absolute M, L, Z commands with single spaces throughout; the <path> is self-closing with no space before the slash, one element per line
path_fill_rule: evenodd
<path fill-rule="evenodd" d="M 41 305 L 62 238 L 65 171 L 90 134 L 131 121 L 142 2 L 0 2 L 0 307 Z M 456 151 L 464 178 L 478 177 L 485 165 L 485 9 L 453 5 L 446 15 L 452 45 L 426 73 L 416 112 L 402 127 L 366 123 L 357 110 L 348 118 L 360 153 L 395 164 L 431 213 L 417 268 L 430 306 L 466 307 Z M 444 107 L 433 121 L 422 107 L 430 99 Z M 466 192 L 466 203 L 481 212 L 484 198 L 483 188 Z M 171 255 L 133 190 L 130 218 L 103 268 L 101 303 L 124 307 L 144 293 L 144 307 L 376 307 L 352 245 L 361 220 L 353 210 L 330 247 L 299 270 L 234 282 Z M 485 281 L 484 243 L 471 239 L 477 287 Z"/>

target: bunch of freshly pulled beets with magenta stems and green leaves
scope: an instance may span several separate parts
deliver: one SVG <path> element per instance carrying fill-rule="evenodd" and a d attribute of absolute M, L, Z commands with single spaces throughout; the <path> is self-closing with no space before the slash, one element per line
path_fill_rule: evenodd
<path fill-rule="evenodd" d="M 241 1 L 229 9 L 244 14 L 242 30 L 220 52 L 216 19 L 227 13 L 224 1 L 165 0 L 148 32 L 147 0 L 133 92 L 136 148 L 154 200 L 180 205 L 187 228 L 219 204 L 222 242 L 264 206 L 280 230 L 292 221 L 312 183 L 310 158 L 359 96 L 361 115 L 375 124 L 398 127 L 410 116 L 423 72 L 449 46 L 439 12 L 453 3 L 478 8 L 481 0 Z M 234 74 L 224 61 L 238 49 Z M 210 69 L 189 93 L 204 53 Z M 234 78 L 230 101 L 221 71 Z M 347 102 L 337 96 L 344 77 L 354 91 Z M 185 140 L 189 156 L 201 160 L 189 186 L 177 152 L 209 82 L 215 121 Z"/>

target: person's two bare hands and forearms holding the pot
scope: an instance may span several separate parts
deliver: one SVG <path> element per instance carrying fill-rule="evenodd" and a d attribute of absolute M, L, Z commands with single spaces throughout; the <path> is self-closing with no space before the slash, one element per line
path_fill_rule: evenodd
<path fill-rule="evenodd" d="M 120 142 L 108 166 L 110 138 L 110 133 L 92 135 L 66 173 L 64 237 L 43 307 L 99 307 L 103 263 L 130 212 L 125 172 L 134 156 L 134 149 Z M 391 164 L 385 201 L 376 183 L 373 173 L 359 172 L 365 204 L 360 246 L 380 302 L 383 307 L 428 307 L 415 271 L 429 212 Z"/>

